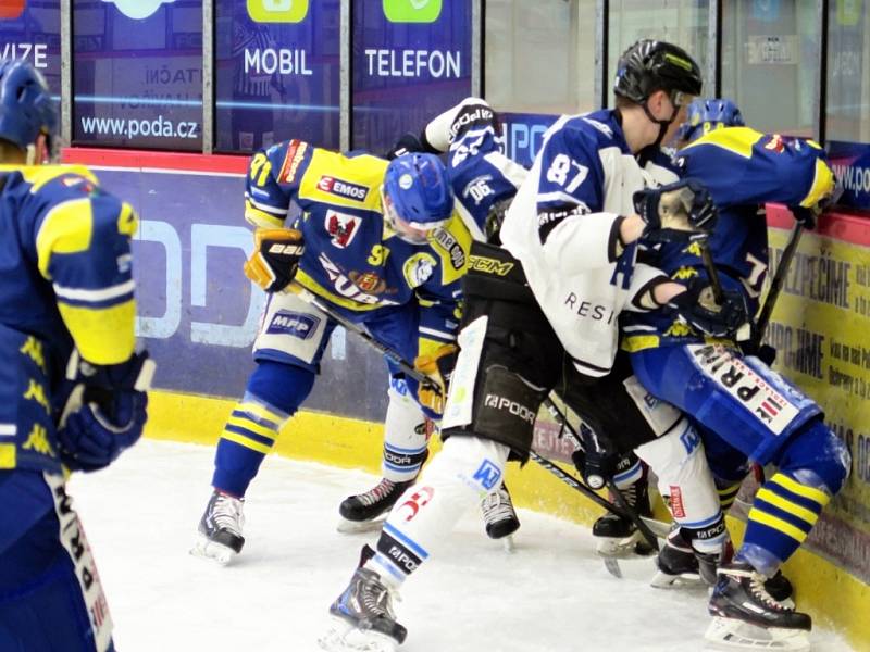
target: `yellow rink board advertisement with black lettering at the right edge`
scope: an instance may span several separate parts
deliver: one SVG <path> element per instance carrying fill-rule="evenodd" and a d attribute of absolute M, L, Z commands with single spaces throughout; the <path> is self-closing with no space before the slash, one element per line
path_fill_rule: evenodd
<path fill-rule="evenodd" d="M 852 452 L 852 475 L 809 547 L 870 582 L 870 225 L 835 217 L 820 231 L 800 240 L 768 340 L 776 368 L 822 405 Z M 771 269 L 787 239 L 770 229 Z"/>

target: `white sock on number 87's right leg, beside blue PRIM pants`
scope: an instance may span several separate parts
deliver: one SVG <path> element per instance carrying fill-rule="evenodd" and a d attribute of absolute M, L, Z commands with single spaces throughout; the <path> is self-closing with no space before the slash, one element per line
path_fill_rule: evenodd
<path fill-rule="evenodd" d="M 721 518 L 719 496 L 700 437 L 683 418 L 635 450 L 658 477 L 659 493 L 682 527 L 704 529 Z"/>

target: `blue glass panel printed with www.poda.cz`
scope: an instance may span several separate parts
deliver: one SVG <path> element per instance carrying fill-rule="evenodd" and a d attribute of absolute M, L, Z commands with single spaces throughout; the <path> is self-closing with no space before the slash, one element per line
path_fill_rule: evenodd
<path fill-rule="evenodd" d="M 74 0 L 73 52 L 74 143 L 202 150 L 201 2 Z"/>

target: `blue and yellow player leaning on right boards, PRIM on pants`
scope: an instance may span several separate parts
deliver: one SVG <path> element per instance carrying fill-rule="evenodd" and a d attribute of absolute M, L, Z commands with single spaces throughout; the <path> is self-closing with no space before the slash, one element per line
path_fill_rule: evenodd
<path fill-rule="evenodd" d="M 720 100 L 695 104 L 683 131 L 691 142 L 678 152 L 676 164 L 684 177 L 701 180 L 713 197 L 719 221 L 709 247 L 719 277 L 724 288 L 743 293 L 754 313 L 768 265 L 759 205 L 784 203 L 812 226 L 834 178 L 815 142 L 760 134 L 739 126 L 737 115 Z M 695 244 L 656 244 L 645 253 L 674 279 L 709 283 Z M 673 431 L 637 449 L 659 476 L 662 493 L 684 488 L 681 496 L 670 496 L 672 509 L 679 505 L 674 516 L 682 527 L 660 555 L 660 569 L 678 574 L 685 567 L 687 550 L 703 565 L 711 556 L 724 562 L 710 600 L 716 619 L 709 638 L 803 644 L 809 616 L 781 604 L 766 582 L 843 487 L 850 465 L 845 444 L 824 425 L 818 404 L 758 358 L 744 354 L 733 336 L 711 339 L 673 315 L 651 312 L 631 315 L 624 346 L 643 387 L 698 425 L 691 437 Z M 748 464 L 779 467 L 753 503 L 733 561 L 728 560 L 716 493 L 709 484 L 685 485 L 675 472 L 689 466 L 686 460 L 698 454 L 695 449 L 706 449 L 720 492 L 731 500 Z"/>

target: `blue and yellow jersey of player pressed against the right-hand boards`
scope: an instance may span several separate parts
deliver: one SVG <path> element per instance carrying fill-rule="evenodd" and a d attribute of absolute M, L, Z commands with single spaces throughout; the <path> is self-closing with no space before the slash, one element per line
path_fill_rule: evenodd
<path fill-rule="evenodd" d="M 811 140 L 724 127 L 680 150 L 674 165 L 680 176 L 704 184 L 716 201 L 713 261 L 723 285 L 742 289 L 755 314 L 768 268 L 763 204 L 810 208 L 830 195 L 834 176 L 824 150 Z M 647 248 L 643 258 L 675 280 L 706 276 L 697 244 Z M 625 346 L 634 350 L 703 339 L 667 311 L 629 315 L 625 331 Z"/>

